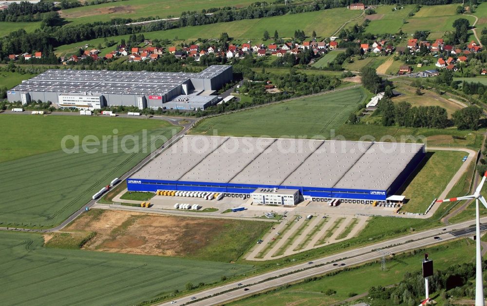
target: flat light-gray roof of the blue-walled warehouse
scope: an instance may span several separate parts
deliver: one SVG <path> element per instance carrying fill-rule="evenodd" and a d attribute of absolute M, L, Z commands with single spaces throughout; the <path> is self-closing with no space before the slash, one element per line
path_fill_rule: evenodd
<path fill-rule="evenodd" d="M 184 136 L 132 178 L 386 190 L 422 144 Z"/>

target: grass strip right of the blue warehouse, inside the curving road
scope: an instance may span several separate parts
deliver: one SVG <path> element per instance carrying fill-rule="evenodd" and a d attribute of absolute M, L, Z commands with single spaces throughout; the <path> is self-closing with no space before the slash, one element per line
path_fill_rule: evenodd
<path fill-rule="evenodd" d="M 409 199 L 401 211 L 424 213 L 460 169 L 465 155 L 466 152 L 458 151 L 429 152 L 421 168 L 404 183 L 407 187 L 397 192 Z"/>

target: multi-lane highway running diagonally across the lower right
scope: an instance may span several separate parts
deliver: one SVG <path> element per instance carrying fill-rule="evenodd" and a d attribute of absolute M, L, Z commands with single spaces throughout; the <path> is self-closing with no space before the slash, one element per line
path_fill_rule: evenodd
<path fill-rule="evenodd" d="M 482 222 L 487 222 L 487 217 L 481 218 L 481 223 Z M 484 231 L 487 230 L 487 224 L 482 225 L 481 229 Z M 176 303 L 173 304 L 171 304 L 172 301 L 168 301 L 159 305 L 183 305 L 191 302 L 191 305 L 198 306 L 223 304 L 225 302 L 242 298 L 246 295 L 261 292 L 266 289 L 279 287 L 288 283 L 299 281 L 308 277 L 321 275 L 347 266 L 362 264 L 377 258 L 381 258 L 384 255 L 387 256 L 410 249 L 420 249 L 439 242 L 452 240 L 462 236 L 468 237 L 474 234 L 475 220 L 469 220 L 462 223 L 444 226 L 441 228 L 428 229 L 416 232 L 414 234 L 379 242 L 366 247 L 347 250 L 334 255 L 325 256 L 319 259 L 315 259 L 309 263 L 301 263 L 298 265 L 277 269 L 274 271 L 242 279 L 237 282 L 232 282 L 222 286 L 206 289 L 192 295 L 178 298 L 174 300 L 174 302 Z M 435 239 L 434 237 L 438 238 Z M 432 259 L 434 260 L 434 255 L 432 256 Z M 239 284 L 242 285 L 239 286 Z"/>

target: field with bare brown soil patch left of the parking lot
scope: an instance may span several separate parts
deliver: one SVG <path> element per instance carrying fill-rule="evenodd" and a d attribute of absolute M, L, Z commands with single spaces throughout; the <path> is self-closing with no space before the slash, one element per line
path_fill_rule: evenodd
<path fill-rule="evenodd" d="M 208 211 L 208 210 L 206 210 Z M 108 226 L 107 226 L 108 225 Z M 95 231 L 84 249 L 235 262 L 270 227 L 268 222 L 90 210 L 66 227 Z M 54 238 L 53 238 L 54 239 Z"/>

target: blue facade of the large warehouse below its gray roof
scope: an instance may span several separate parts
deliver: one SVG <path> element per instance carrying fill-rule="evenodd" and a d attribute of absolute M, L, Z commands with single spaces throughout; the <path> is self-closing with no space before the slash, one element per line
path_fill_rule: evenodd
<path fill-rule="evenodd" d="M 234 184 L 234 183 L 215 183 L 215 182 L 187 182 L 170 181 L 155 179 L 127 178 L 127 188 L 129 191 L 210 191 L 221 193 L 240 193 L 249 194 L 258 188 L 279 188 L 297 189 L 303 196 L 319 198 L 339 198 L 357 200 L 378 200 L 384 201 L 389 195 L 398 191 L 406 179 L 416 170 L 418 165 L 425 157 L 425 150 L 419 150 L 411 159 L 404 170 L 395 178 L 393 183 L 385 190 L 366 190 L 366 189 L 337 189 L 337 188 L 318 188 L 303 186 L 277 186 L 262 184 Z"/>

